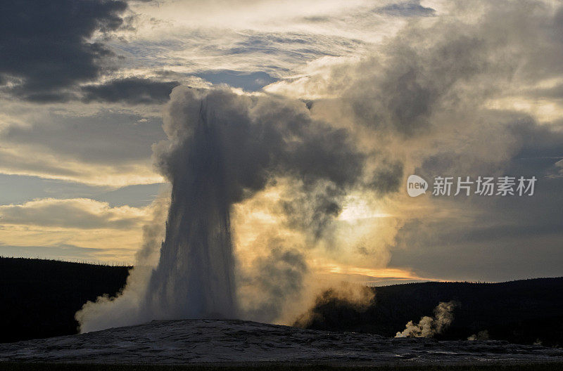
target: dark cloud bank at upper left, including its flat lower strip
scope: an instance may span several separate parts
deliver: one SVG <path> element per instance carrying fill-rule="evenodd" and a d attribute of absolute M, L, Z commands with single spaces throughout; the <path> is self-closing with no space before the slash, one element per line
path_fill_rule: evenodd
<path fill-rule="evenodd" d="M 94 34 L 125 27 L 126 1 L 11 1 L 0 15 L 0 91 L 36 103 L 82 99 L 162 103 L 175 82 L 115 78 L 81 84 L 119 70 L 120 56 Z"/>

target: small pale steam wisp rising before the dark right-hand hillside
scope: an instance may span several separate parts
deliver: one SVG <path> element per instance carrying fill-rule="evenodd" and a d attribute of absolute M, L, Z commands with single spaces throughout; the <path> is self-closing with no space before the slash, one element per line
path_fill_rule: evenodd
<path fill-rule="evenodd" d="M 395 337 L 434 337 L 441 334 L 453 321 L 453 310 L 459 306 L 455 301 L 443 301 L 434 308 L 434 317 L 424 316 L 419 323 L 409 321 L 403 332 L 397 332 Z"/>

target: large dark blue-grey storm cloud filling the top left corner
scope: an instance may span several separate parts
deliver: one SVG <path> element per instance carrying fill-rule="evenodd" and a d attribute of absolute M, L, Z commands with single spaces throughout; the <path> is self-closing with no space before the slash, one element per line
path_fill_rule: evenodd
<path fill-rule="evenodd" d="M 0 77 L 38 102 L 68 100 L 65 89 L 99 77 L 112 51 L 88 38 L 122 25 L 125 1 L 4 1 L 0 6 Z"/>

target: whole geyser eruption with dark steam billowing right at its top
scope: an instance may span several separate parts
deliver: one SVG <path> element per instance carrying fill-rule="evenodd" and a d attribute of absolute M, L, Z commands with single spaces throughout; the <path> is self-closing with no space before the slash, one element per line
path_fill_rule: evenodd
<path fill-rule="evenodd" d="M 298 100 L 181 86 L 172 92 L 164 129 L 168 140 L 153 151 L 172 194 L 158 265 L 137 288 L 130 287 L 132 274 L 117 298 L 87 303 L 77 313 L 82 331 L 108 327 L 108 321 L 130 325 L 153 318 L 244 316 L 234 282 L 232 205 L 276 177 L 298 178 L 301 188 L 317 192 L 305 211 L 310 216 L 304 228 L 318 234 L 325 219 L 338 214 L 326 215 L 327 208 L 339 208 L 334 201 L 327 206 L 327 199 L 343 194 L 362 171 L 364 157 L 346 131 L 312 119 Z M 153 247 L 156 240 L 152 235 L 149 240 Z M 298 291 L 308 271 L 302 254 L 281 243 L 258 266 L 275 271 L 279 262 L 290 267 L 286 278 L 295 282 L 287 288 Z M 286 289 L 280 289 L 272 295 L 283 297 Z M 131 300 L 133 293 L 137 299 Z M 116 316 L 112 306 L 123 304 Z"/>

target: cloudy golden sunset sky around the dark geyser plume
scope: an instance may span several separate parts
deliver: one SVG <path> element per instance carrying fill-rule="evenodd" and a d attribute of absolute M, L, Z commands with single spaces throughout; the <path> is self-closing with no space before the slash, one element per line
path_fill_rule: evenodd
<path fill-rule="evenodd" d="M 135 263 L 165 223 L 170 94 L 222 86 L 307 111 L 362 157 L 342 187 L 289 169 L 234 204 L 241 266 L 290 244 L 373 284 L 561 276 L 562 60 L 559 1 L 4 1 L 0 256 Z M 436 176 L 538 181 L 434 196 Z"/>

